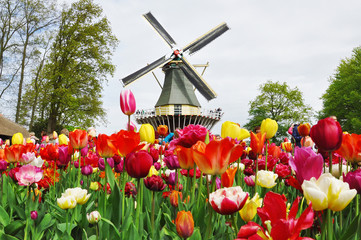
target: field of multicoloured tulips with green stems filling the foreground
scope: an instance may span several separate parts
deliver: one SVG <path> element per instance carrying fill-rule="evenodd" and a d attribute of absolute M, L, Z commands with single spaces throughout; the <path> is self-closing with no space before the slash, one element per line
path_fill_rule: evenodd
<path fill-rule="evenodd" d="M 337 121 L 301 147 L 271 119 L 156 130 L 0 140 L 0 239 L 361 239 L 361 136 Z"/>

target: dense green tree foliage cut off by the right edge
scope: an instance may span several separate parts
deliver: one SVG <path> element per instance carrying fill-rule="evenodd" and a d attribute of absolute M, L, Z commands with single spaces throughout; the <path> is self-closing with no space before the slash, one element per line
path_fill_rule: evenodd
<path fill-rule="evenodd" d="M 344 131 L 361 133 L 361 47 L 341 60 L 322 100 L 319 118 L 335 115 Z"/>

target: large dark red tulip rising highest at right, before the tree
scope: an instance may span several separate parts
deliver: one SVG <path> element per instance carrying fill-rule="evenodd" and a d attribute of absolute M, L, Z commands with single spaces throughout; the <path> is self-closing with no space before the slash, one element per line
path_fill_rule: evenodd
<path fill-rule="evenodd" d="M 342 135 L 340 123 L 332 118 L 319 120 L 310 131 L 316 146 L 326 152 L 334 151 L 341 146 Z"/>

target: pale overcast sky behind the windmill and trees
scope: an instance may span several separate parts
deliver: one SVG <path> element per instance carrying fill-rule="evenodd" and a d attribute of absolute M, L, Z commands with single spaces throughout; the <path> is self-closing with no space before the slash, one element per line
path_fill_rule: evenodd
<path fill-rule="evenodd" d="M 67 0 L 66 2 L 74 2 Z M 119 45 L 113 56 L 116 71 L 104 86 L 107 126 L 111 134 L 126 127 L 119 106 L 124 89 L 120 79 L 155 61 L 171 49 L 142 17 L 152 12 L 182 47 L 222 22 L 230 30 L 186 56 L 192 64 L 209 62 L 203 78 L 217 98 L 207 101 L 196 93 L 202 108 L 222 108 L 222 120 L 212 129 L 220 133 L 224 121 L 241 126 L 248 121 L 249 102 L 268 80 L 297 87 L 306 104 L 322 109 L 320 97 L 342 59 L 361 45 L 361 1 L 347 0 L 94 0 L 102 6 Z M 198 69 L 202 72 L 203 69 Z M 154 71 L 163 82 L 161 69 Z M 153 108 L 161 89 L 152 74 L 126 87 L 137 109 Z M 135 121 L 132 118 L 132 121 Z"/>

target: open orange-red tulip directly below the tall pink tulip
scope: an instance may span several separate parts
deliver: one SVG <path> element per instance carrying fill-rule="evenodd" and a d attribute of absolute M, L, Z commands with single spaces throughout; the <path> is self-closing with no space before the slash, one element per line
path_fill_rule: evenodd
<path fill-rule="evenodd" d="M 113 135 L 115 147 L 118 150 L 118 154 L 122 157 L 127 156 L 140 143 L 140 135 L 134 131 L 120 130 L 117 134 Z"/>

